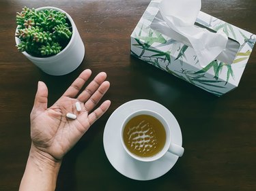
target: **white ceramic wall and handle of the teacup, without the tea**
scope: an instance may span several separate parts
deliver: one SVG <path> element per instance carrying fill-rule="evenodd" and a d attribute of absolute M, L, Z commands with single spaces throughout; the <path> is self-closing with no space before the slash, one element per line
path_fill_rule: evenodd
<path fill-rule="evenodd" d="M 152 116 L 154 118 L 156 118 L 163 126 L 164 130 L 165 130 L 165 135 L 166 135 L 166 139 L 165 139 L 165 143 L 162 147 L 162 149 L 157 152 L 156 154 L 152 155 L 152 156 L 139 156 L 138 154 L 135 154 L 134 152 L 130 151 L 128 149 L 128 147 L 126 146 L 126 143 L 124 141 L 124 129 L 126 127 L 126 124 L 134 117 L 136 116 L 141 116 L 141 115 L 147 115 L 147 116 Z M 139 117 L 137 117 L 139 118 Z M 147 123 L 149 124 L 149 123 Z M 138 126 L 134 126 L 134 128 L 148 128 L 147 124 L 138 124 Z M 141 126 L 141 127 L 140 127 Z M 147 127 L 145 127 L 147 126 Z M 134 129 L 132 128 L 132 129 Z M 183 153 L 184 153 L 184 148 L 181 147 L 180 145 L 177 145 L 175 143 L 172 142 L 172 139 L 171 139 L 171 135 L 172 135 L 172 127 L 171 127 L 171 124 L 169 125 L 167 123 L 167 121 L 165 120 L 165 118 L 163 118 L 160 114 L 156 113 L 155 111 L 151 111 L 151 110 L 148 110 L 148 109 L 141 109 L 139 111 L 135 111 L 134 113 L 130 114 L 123 122 L 122 124 L 122 128 L 121 128 L 121 131 L 120 131 L 120 137 L 121 137 L 121 141 L 122 141 L 122 145 L 124 147 L 124 150 L 126 150 L 126 152 L 134 159 L 136 160 L 139 160 L 139 161 L 142 161 L 142 162 L 152 162 L 154 160 L 158 160 L 159 158 L 161 158 L 162 156 L 164 156 L 167 152 L 171 152 L 172 154 L 175 154 L 176 156 L 182 156 Z M 139 132 L 141 133 L 141 132 Z M 134 135 L 138 135 L 139 136 L 139 133 L 137 132 L 134 132 L 131 136 L 134 136 Z M 142 138 L 141 138 L 142 137 Z M 145 140 L 143 137 L 145 137 L 145 134 L 142 134 L 141 133 L 141 137 L 137 137 L 134 138 L 136 140 L 141 140 L 143 139 L 143 141 Z M 148 139 L 148 138 L 147 138 Z M 153 141 L 154 142 L 154 141 Z M 145 141 L 144 141 L 145 143 Z M 137 143 L 137 147 L 140 147 L 140 143 Z M 148 146 L 149 147 L 149 146 Z"/>

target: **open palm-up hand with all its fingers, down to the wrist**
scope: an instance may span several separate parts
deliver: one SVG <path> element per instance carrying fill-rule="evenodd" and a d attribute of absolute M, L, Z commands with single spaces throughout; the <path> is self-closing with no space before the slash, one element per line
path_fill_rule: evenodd
<path fill-rule="evenodd" d="M 72 83 L 66 92 L 51 107 L 47 108 L 48 89 L 44 82 L 38 82 L 31 111 L 31 150 L 50 160 L 60 160 L 79 141 L 83 134 L 109 108 L 110 101 L 104 101 L 94 109 L 109 89 L 106 73 L 99 73 L 79 94 L 89 79 L 91 71 L 86 69 Z M 81 111 L 76 111 L 75 103 L 81 103 Z M 94 110 L 93 110 L 94 109 Z M 75 120 L 67 113 L 77 116 Z"/>

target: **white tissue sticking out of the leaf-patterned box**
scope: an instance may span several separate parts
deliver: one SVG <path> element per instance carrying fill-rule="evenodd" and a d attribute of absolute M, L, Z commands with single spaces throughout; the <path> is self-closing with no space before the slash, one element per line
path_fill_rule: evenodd
<path fill-rule="evenodd" d="M 159 10 L 168 26 L 188 39 L 202 67 L 225 49 L 227 35 L 223 31 L 212 33 L 194 26 L 201 10 L 201 0 L 162 0 Z"/>

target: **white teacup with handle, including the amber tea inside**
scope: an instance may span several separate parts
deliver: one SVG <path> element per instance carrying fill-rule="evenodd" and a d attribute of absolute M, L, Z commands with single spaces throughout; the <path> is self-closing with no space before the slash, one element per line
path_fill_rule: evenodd
<path fill-rule="evenodd" d="M 124 150 L 142 162 L 158 160 L 171 152 L 182 156 L 184 148 L 171 143 L 171 126 L 155 111 L 142 109 L 130 114 L 121 128 Z"/>

